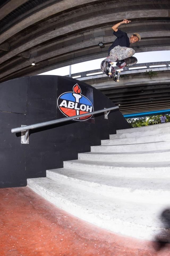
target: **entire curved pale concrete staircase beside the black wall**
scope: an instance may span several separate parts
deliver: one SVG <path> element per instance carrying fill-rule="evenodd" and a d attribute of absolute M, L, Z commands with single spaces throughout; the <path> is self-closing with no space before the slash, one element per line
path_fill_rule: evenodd
<path fill-rule="evenodd" d="M 165 123 L 119 130 L 91 152 L 78 154 L 78 160 L 65 161 L 63 168 L 47 170 L 45 178 L 27 179 L 27 184 L 94 225 L 154 240 L 167 231 L 160 215 L 170 207 L 169 128 Z"/>

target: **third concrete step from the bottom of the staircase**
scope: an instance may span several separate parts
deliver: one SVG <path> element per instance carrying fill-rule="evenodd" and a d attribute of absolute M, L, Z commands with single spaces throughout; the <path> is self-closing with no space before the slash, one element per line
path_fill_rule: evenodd
<path fill-rule="evenodd" d="M 64 161 L 64 168 L 81 172 L 134 178 L 170 178 L 169 162 L 100 162 L 90 160 Z"/>

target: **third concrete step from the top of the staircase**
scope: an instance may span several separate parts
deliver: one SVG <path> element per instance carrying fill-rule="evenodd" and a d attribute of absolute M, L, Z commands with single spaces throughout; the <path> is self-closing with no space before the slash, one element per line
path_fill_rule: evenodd
<path fill-rule="evenodd" d="M 170 140 L 170 133 L 166 135 L 157 134 L 157 135 L 142 136 L 142 137 L 124 138 L 124 139 L 101 140 L 101 145 L 135 144 L 135 143 L 148 143 L 148 142 L 168 141 L 168 140 Z"/>

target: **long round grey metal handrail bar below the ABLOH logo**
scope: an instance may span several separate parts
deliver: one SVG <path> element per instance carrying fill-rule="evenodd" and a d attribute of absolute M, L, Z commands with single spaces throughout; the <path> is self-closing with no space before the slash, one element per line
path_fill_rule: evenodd
<path fill-rule="evenodd" d="M 48 126 L 48 125 L 52 125 L 52 124 L 67 122 L 67 121 L 70 121 L 70 120 L 73 120 L 73 119 L 76 119 L 76 118 L 79 118 L 79 117 L 89 116 L 89 114 L 90 115 L 95 115 L 95 114 L 98 114 L 98 113 L 108 112 L 108 111 L 111 111 L 111 110 L 117 109 L 117 108 L 119 108 L 119 107 L 116 106 L 116 107 L 112 107 L 112 108 L 105 108 L 105 109 L 100 109 L 100 110 L 97 110 L 97 111 L 85 113 L 85 114 L 82 114 L 82 115 L 64 117 L 64 118 L 60 118 L 60 119 L 56 119 L 56 120 L 52 120 L 52 121 L 47 121 L 47 122 L 43 122 L 43 123 L 38 123 L 38 124 L 25 125 L 23 127 L 12 128 L 11 132 L 12 133 L 22 132 L 22 131 L 27 131 L 29 129 L 36 129 L 36 128 L 39 128 L 39 127 L 44 127 L 44 126 Z"/>

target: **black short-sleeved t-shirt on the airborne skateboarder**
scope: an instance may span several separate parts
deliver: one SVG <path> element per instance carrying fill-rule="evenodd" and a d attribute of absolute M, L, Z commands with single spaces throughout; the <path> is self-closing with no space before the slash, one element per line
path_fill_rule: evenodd
<path fill-rule="evenodd" d="M 129 37 L 128 37 L 128 35 L 125 32 L 123 32 L 123 31 L 118 29 L 117 32 L 114 31 L 113 34 L 117 38 L 113 42 L 113 44 L 109 47 L 109 50 L 108 50 L 109 53 L 117 45 L 129 47 L 129 45 L 130 45 Z"/>

